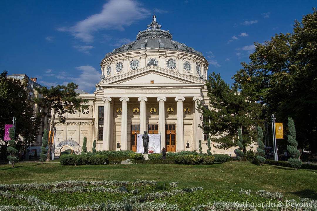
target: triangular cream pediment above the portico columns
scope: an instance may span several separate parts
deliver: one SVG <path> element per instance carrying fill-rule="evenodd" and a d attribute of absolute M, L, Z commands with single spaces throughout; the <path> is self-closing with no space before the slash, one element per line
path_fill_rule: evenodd
<path fill-rule="evenodd" d="M 203 80 L 183 75 L 173 71 L 167 71 L 156 66 L 148 66 L 138 71 L 112 77 L 100 82 L 100 85 L 110 84 L 204 84 Z"/>

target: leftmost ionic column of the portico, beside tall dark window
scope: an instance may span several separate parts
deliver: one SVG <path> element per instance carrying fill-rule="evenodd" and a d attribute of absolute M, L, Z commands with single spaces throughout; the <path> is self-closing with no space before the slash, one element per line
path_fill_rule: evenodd
<path fill-rule="evenodd" d="M 103 97 L 101 99 L 105 102 L 103 107 L 103 150 L 110 150 L 110 101 L 111 97 Z"/>

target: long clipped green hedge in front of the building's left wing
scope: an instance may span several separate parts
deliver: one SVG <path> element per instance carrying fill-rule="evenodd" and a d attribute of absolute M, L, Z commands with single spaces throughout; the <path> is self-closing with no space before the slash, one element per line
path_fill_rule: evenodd
<path fill-rule="evenodd" d="M 63 165 L 100 165 L 107 162 L 105 155 L 61 155 L 59 162 Z"/>

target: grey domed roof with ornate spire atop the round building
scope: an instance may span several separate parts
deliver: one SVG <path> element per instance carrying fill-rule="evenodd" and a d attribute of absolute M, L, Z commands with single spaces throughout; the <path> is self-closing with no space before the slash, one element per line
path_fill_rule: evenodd
<path fill-rule="evenodd" d="M 186 46 L 184 43 L 172 40 L 172 34 L 169 32 L 169 30 L 165 31 L 160 29 L 161 25 L 156 22 L 155 14 L 153 16 L 152 23 L 147 27 L 148 28 L 146 30 L 139 31 L 136 41 L 113 49 L 111 53 L 106 54 L 105 58 L 118 53 L 143 49 L 167 49 L 173 51 L 184 51 L 187 53 L 194 53 L 199 56 L 203 56 L 201 52 L 195 51 L 194 48 Z"/>

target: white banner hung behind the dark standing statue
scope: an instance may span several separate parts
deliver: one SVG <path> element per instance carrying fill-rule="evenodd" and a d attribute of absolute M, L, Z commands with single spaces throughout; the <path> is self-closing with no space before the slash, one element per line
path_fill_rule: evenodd
<path fill-rule="evenodd" d="M 148 153 L 161 153 L 161 134 L 148 134 L 149 135 L 149 149 Z M 137 134 L 137 153 L 144 152 L 143 148 L 143 134 Z"/>

